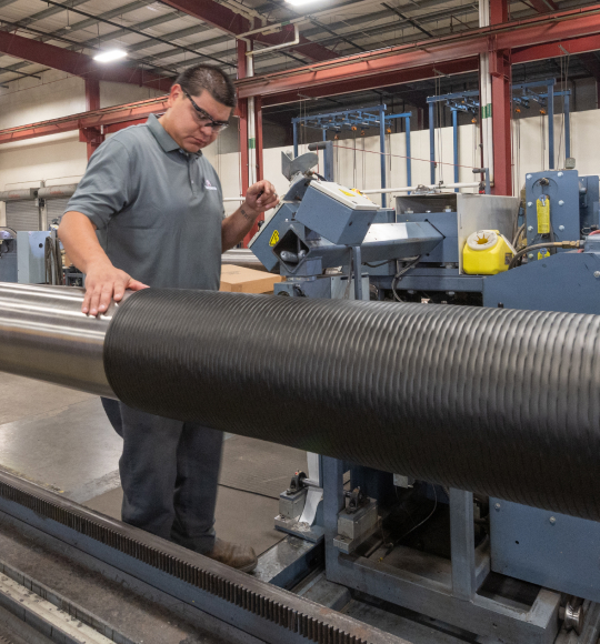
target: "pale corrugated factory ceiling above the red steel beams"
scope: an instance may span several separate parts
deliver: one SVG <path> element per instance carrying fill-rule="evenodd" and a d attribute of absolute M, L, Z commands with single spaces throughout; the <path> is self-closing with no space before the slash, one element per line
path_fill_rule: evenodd
<path fill-rule="evenodd" d="M 513 0 L 510 18 L 586 4 L 590 3 Z M 142 84 L 156 89 L 164 88 L 161 77 L 168 84 L 169 79 L 197 62 L 217 64 L 234 77 L 237 34 L 260 21 L 277 24 L 299 18 L 302 19 L 298 22 L 300 43 L 257 56 L 256 74 L 464 32 L 478 27 L 479 9 L 473 0 L 312 0 L 299 7 L 286 0 L 222 0 L 219 3 L 214 0 L 0 0 L 0 84 L 6 87 L 19 79 L 39 77 L 51 67 L 70 70 L 63 64 L 67 59 L 71 60 L 73 73 L 78 73 L 82 60 L 89 61 L 100 51 L 112 48 L 123 49 L 128 54 L 126 62 L 111 63 L 112 69 L 124 68 L 132 73 L 131 82 L 139 83 L 141 78 Z M 289 27 L 283 32 L 261 36 L 262 42 L 254 47 L 260 49 L 288 38 L 293 38 Z M 33 46 L 24 39 L 40 44 Z M 33 50 L 38 53 L 29 53 Z M 572 61 L 571 73 L 600 74 L 596 54 L 584 56 L 587 61 L 584 57 Z M 516 71 L 540 78 L 560 76 L 560 68 L 553 61 L 529 66 L 529 72 Z M 80 71 L 79 76 L 86 73 Z M 472 76 L 460 82 L 477 83 L 477 77 Z M 438 84 L 451 87 L 452 83 L 456 87 L 457 80 L 443 79 Z M 402 100 L 402 92 L 432 93 L 433 89 L 433 81 L 429 81 L 403 90 L 398 88 L 398 91 L 387 88 L 383 92 L 369 92 L 360 100 L 384 101 L 392 95 L 394 100 Z M 344 99 L 338 101 L 343 102 Z M 319 101 L 319 107 L 327 103 L 334 105 L 329 100 Z"/>

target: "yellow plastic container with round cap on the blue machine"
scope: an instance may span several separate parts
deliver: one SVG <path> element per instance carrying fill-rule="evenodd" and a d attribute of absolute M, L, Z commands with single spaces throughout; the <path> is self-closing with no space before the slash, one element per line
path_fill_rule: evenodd
<path fill-rule="evenodd" d="M 469 275 L 496 275 L 507 271 L 516 251 L 498 230 L 478 230 L 462 250 L 462 270 Z"/>

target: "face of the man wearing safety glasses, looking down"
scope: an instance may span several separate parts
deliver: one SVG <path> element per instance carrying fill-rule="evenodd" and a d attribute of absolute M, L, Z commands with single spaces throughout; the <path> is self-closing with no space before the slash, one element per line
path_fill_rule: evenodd
<path fill-rule="evenodd" d="M 202 90 L 199 95 L 191 94 L 191 98 L 214 121 L 229 120 L 231 108 L 214 100 L 206 90 Z M 219 132 L 211 127 L 210 121 L 196 111 L 180 85 L 176 84 L 171 88 L 168 104 L 170 114 L 167 130 L 186 152 L 198 152 L 202 148 L 210 145 L 219 135 Z"/>

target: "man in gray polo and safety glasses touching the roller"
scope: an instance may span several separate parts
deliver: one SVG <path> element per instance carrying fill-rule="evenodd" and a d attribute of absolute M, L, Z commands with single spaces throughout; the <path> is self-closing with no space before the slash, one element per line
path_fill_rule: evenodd
<path fill-rule="evenodd" d="M 224 217 L 219 178 L 201 149 L 227 127 L 234 105 L 229 78 L 197 66 L 172 85 L 163 117 L 121 130 L 94 152 L 59 228 L 86 273 L 83 313 L 104 312 L 128 289 L 219 289 L 221 252 L 279 201 L 273 185 L 259 181 Z M 214 537 L 221 432 L 102 404 L 123 437 L 123 521 L 253 570 L 252 549 Z"/>

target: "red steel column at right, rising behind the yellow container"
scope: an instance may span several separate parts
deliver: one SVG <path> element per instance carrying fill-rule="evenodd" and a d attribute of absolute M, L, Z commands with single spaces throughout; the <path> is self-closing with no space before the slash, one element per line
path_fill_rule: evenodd
<path fill-rule="evenodd" d="M 508 22 L 507 0 L 490 0 L 490 24 Z M 511 62 L 510 50 L 499 51 L 490 40 L 492 94 L 493 194 L 512 194 Z"/>

